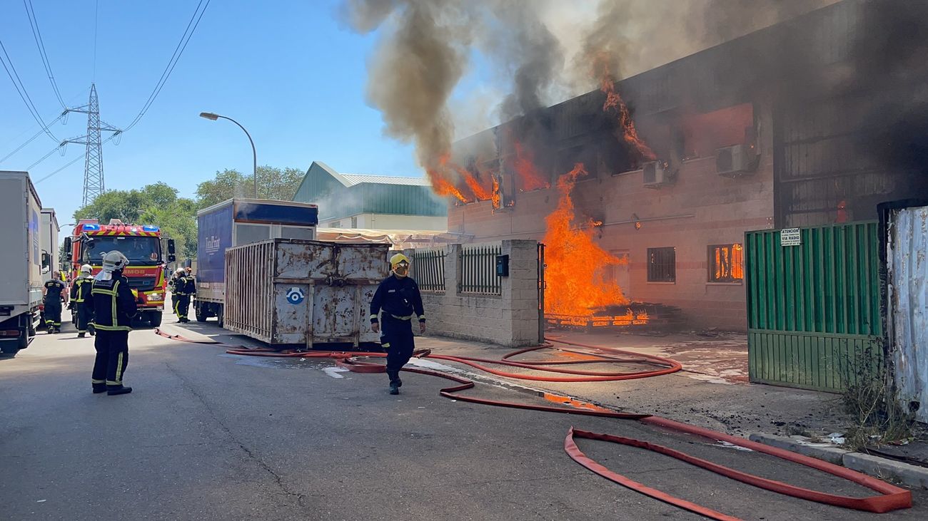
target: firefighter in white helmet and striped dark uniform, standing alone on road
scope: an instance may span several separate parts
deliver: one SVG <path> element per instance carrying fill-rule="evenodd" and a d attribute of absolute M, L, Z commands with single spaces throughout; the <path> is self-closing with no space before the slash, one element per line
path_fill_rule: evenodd
<path fill-rule="evenodd" d="M 135 316 L 135 293 L 122 269 L 129 263 L 119 251 L 103 256 L 103 270 L 94 277 L 87 305 L 94 313 L 97 359 L 91 383 L 94 393 L 110 396 L 132 392 L 122 385 L 122 375 L 129 363 L 129 331 Z"/>

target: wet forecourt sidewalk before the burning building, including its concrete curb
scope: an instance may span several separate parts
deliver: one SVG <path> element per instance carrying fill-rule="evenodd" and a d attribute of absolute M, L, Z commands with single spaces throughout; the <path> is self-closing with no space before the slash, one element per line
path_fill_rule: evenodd
<path fill-rule="evenodd" d="M 916 440 L 905 448 L 885 447 L 870 454 L 850 452 L 818 443 L 831 433 L 846 432 L 851 426 L 844 414 L 840 395 L 797 388 L 780 388 L 748 383 L 747 340 L 743 335 L 630 335 L 615 332 L 549 334 L 563 340 L 626 349 L 671 358 L 683 370 L 635 380 L 561 383 L 520 380 L 488 375 L 466 365 L 444 362 L 469 373 L 475 380 L 504 384 L 518 390 L 544 392 L 591 402 L 628 413 L 651 413 L 727 434 L 751 438 L 768 445 L 797 451 L 819 459 L 844 464 L 872 476 L 892 479 L 911 487 L 928 489 L 928 467 L 899 463 L 906 458 L 920 463 L 928 453 L 928 442 Z M 499 360 L 515 349 L 442 337 L 419 337 L 417 348 L 436 354 Z M 547 349 L 526 353 L 515 361 L 576 359 L 574 353 Z M 638 366 L 638 369 L 644 366 Z M 511 368 L 496 366 L 509 371 Z M 615 371 L 615 366 L 591 364 L 590 371 Z M 622 371 L 636 369 L 629 364 Z M 916 454 L 917 457 L 912 457 Z"/>

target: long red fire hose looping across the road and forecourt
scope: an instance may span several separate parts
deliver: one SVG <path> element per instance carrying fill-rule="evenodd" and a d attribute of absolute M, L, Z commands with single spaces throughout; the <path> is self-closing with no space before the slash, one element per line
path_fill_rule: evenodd
<path fill-rule="evenodd" d="M 382 373 L 384 372 L 384 365 L 376 362 L 362 362 L 358 360 L 359 358 L 385 358 L 386 353 L 383 352 L 357 352 L 357 351 L 280 351 L 277 349 L 271 348 L 248 348 L 246 346 L 237 346 L 232 344 L 224 344 L 221 342 L 214 341 L 200 341 L 193 340 L 187 337 L 180 335 L 169 335 L 161 331 L 161 329 L 155 329 L 155 333 L 161 337 L 167 337 L 174 340 L 179 340 L 188 343 L 194 344 L 207 344 L 218 347 L 226 348 L 226 353 L 234 355 L 243 355 L 243 356 L 260 356 L 260 357 L 275 357 L 275 358 L 318 358 L 318 359 L 329 359 L 333 360 L 337 365 L 353 371 L 355 373 Z M 555 348 L 551 344 L 545 344 L 542 346 L 536 346 L 534 348 L 528 349 L 519 349 L 512 351 L 509 354 L 503 356 L 499 360 L 475 358 L 475 357 L 463 357 L 463 356 L 451 356 L 451 355 L 442 355 L 434 354 L 430 349 L 418 349 L 413 356 L 417 358 L 429 358 L 434 360 L 444 360 L 447 362 L 458 362 L 465 365 L 469 365 L 475 369 L 490 373 L 492 375 L 504 376 L 507 378 L 514 378 L 520 380 L 535 380 L 535 381 L 544 381 L 544 382 L 604 382 L 604 381 L 618 381 L 618 380 L 629 380 L 634 378 L 646 378 L 650 376 L 657 375 L 668 375 L 670 373 L 675 373 L 682 368 L 682 365 L 679 362 L 670 360 L 667 358 L 636 353 L 632 351 L 627 351 L 624 349 L 614 349 L 606 348 L 602 346 L 592 346 L 576 342 L 568 342 L 561 339 L 555 338 L 546 338 L 548 342 L 554 342 L 558 344 L 563 344 L 566 346 L 572 346 L 575 348 L 589 349 L 594 352 L 588 352 L 578 349 L 569 349 L 569 348 Z M 559 349 L 563 351 L 572 352 L 575 354 L 585 355 L 588 357 L 585 360 L 572 360 L 572 361 L 555 361 L 555 362 L 515 362 L 509 360 L 510 358 L 524 354 L 527 352 L 533 352 L 540 349 Z M 565 365 L 578 365 L 585 363 L 628 363 L 628 362 L 638 362 L 638 363 L 649 363 L 657 366 L 657 369 L 644 370 L 644 371 L 633 371 L 633 372 L 594 372 L 594 371 L 582 371 L 582 370 L 572 370 L 561 368 Z M 503 365 L 509 367 L 517 367 L 521 369 L 530 369 L 533 371 L 539 371 L 542 373 L 553 373 L 560 375 L 571 375 L 571 376 L 548 376 L 548 375 L 526 375 L 523 373 L 510 373 L 502 371 L 499 369 L 494 369 L 489 367 L 489 365 Z M 890 485 L 880 479 L 874 477 L 866 476 L 864 474 L 858 473 L 856 471 L 844 468 L 843 466 L 831 464 L 821 460 L 817 460 L 810 456 L 805 456 L 802 454 L 797 454 L 792 451 L 786 451 L 783 449 L 778 449 L 776 447 L 770 447 L 761 443 L 750 441 L 748 439 L 740 438 L 737 436 L 731 436 L 722 432 L 718 432 L 712 429 L 703 428 L 699 426 L 691 426 L 689 424 L 683 424 L 663 418 L 661 416 L 656 416 L 653 414 L 647 413 L 619 413 L 615 411 L 610 411 L 604 408 L 597 408 L 597 410 L 588 410 L 588 409 L 567 409 L 562 407 L 552 407 L 546 405 L 532 405 L 528 403 L 520 403 L 515 401 L 502 401 L 502 400 L 487 400 L 483 398 L 477 398 L 467 395 L 457 394 L 460 391 L 473 388 L 474 383 L 472 380 L 463 378 L 456 375 L 448 375 L 438 371 L 432 371 L 428 369 L 420 369 L 416 367 L 404 367 L 403 371 L 409 373 L 418 373 L 420 375 L 431 375 L 445 378 L 451 380 L 458 385 L 442 388 L 439 390 L 439 394 L 445 398 L 450 398 L 452 400 L 461 400 L 468 401 L 471 403 L 481 403 L 484 405 L 494 405 L 497 407 L 509 407 L 515 409 L 527 409 L 531 411 L 541 411 L 545 413 L 567 413 L 567 414 L 580 414 L 585 416 L 599 416 L 607 418 L 615 418 L 621 420 L 636 420 L 644 424 L 651 426 L 658 426 L 664 429 L 671 431 L 690 434 L 694 436 L 699 436 L 702 438 L 714 439 L 716 441 L 723 441 L 731 443 L 745 449 L 750 449 L 752 451 L 762 452 L 771 456 L 778 457 L 780 459 L 796 463 L 803 464 L 808 467 L 814 468 L 821 472 L 831 474 L 835 477 L 841 477 L 853 483 L 857 483 L 863 487 L 879 492 L 878 495 L 872 495 L 863 498 L 854 498 L 849 496 L 842 496 L 838 494 L 830 494 L 827 492 L 821 492 L 813 489 L 804 489 L 802 487 L 797 487 L 781 481 L 774 479 L 767 479 L 765 477 L 754 476 L 752 474 L 744 473 L 733 468 L 715 464 L 690 454 L 686 454 L 681 451 L 676 451 L 662 445 L 657 445 L 647 441 L 634 438 L 622 438 L 618 436 L 612 436 L 608 434 L 599 434 L 588 432 L 585 430 L 571 429 L 567 433 L 567 437 L 564 439 L 564 451 L 573 459 L 576 463 L 583 465 L 586 469 L 598 474 L 601 477 L 610 479 L 611 481 L 622 485 L 628 489 L 633 489 L 639 493 L 645 494 L 654 498 L 656 500 L 667 502 L 673 504 L 677 507 L 689 510 L 690 512 L 704 515 L 712 519 L 718 520 L 737 520 L 738 518 L 732 517 L 730 515 L 725 515 L 714 510 L 703 507 L 699 504 L 688 502 L 681 498 L 669 495 L 665 492 L 662 492 L 657 489 L 651 489 L 644 484 L 638 483 L 632 479 L 624 477 L 620 474 L 609 470 L 605 466 L 598 464 L 597 462 L 591 460 L 583 451 L 577 447 L 575 438 L 585 438 L 585 439 L 594 439 L 600 441 L 609 441 L 612 443 L 618 443 L 622 445 L 627 445 L 631 447 L 637 447 L 639 449 L 644 449 L 647 451 L 654 451 L 672 458 L 676 458 L 680 461 L 686 462 L 688 464 L 693 464 L 699 466 L 703 469 L 709 470 L 721 476 L 729 477 L 731 479 L 736 479 L 742 483 L 748 485 L 753 485 L 760 489 L 767 489 L 770 491 L 778 492 L 787 496 L 794 498 L 804 499 L 807 501 L 820 502 L 824 504 L 830 504 L 833 506 L 839 506 L 844 508 L 850 508 L 855 510 L 861 510 L 865 512 L 873 512 L 877 514 L 882 514 L 885 512 L 890 512 L 893 510 L 898 510 L 902 508 L 910 508 L 912 506 L 912 496 L 911 492 L 907 489 L 901 489 L 894 485 Z"/>

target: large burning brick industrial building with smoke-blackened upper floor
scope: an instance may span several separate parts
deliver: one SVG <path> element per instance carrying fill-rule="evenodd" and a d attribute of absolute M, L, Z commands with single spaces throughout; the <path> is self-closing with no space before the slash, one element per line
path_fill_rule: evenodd
<path fill-rule="evenodd" d="M 544 241 L 557 179 L 583 163 L 574 225 L 627 261 L 606 267 L 625 296 L 746 330 L 746 232 L 876 220 L 878 203 L 928 193 L 911 142 L 928 131 L 912 116 L 928 114 L 928 64 L 868 41 L 884 11 L 845 0 L 616 83 L 654 158 L 600 91 L 458 141 L 454 161 L 500 197 L 451 199 L 448 231 Z"/>

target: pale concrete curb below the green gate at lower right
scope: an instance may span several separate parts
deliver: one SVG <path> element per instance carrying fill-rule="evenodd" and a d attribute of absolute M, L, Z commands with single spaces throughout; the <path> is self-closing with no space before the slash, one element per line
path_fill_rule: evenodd
<path fill-rule="evenodd" d="M 928 489 L 928 468 L 897 462 L 863 452 L 845 451 L 830 443 L 814 443 L 805 438 L 785 438 L 770 434 L 752 434 L 749 439 L 771 447 L 798 452 L 880 479 L 892 479 L 914 489 Z"/>

